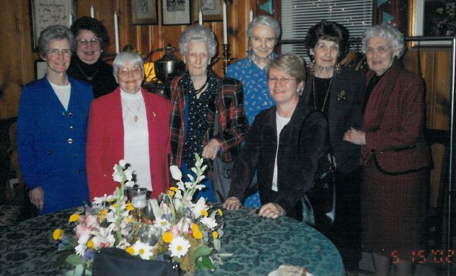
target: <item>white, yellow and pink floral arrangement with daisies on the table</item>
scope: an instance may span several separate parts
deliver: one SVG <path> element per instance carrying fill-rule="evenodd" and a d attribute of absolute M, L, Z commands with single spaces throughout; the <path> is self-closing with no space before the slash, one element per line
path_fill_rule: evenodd
<path fill-rule="evenodd" d="M 206 170 L 206 166 L 201 168 L 202 162 L 196 154 L 195 166 L 191 168 L 194 176 L 187 175 L 190 181 L 186 183 L 179 168 L 171 166 L 177 187 L 162 194 L 160 202 L 148 200 L 152 219 L 138 219 L 135 207 L 126 197 L 127 188 L 134 185 L 133 171 L 126 168 L 126 161 L 119 161 L 113 168 L 113 179 L 121 185 L 113 195 L 95 197 L 91 206 L 77 209 L 69 217 L 69 224 L 75 224 L 74 233 L 55 229 L 52 234 L 52 238 L 60 241 L 60 259 L 74 267 L 67 275 L 91 275 L 94 255 L 106 247 L 121 248 L 146 260 L 172 260 L 184 272 L 195 268 L 214 270 L 215 263 L 223 263 L 221 258 L 231 254 L 218 252 L 223 236 L 221 209 L 206 205 L 204 198 L 192 202 L 196 190 L 205 188 L 201 184 Z M 153 244 L 141 238 L 145 229 L 158 233 Z"/>

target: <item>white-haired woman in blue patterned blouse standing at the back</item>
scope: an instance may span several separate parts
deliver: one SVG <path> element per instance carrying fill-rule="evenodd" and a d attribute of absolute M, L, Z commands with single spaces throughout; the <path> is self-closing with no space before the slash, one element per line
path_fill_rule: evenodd
<path fill-rule="evenodd" d="M 226 76 L 238 79 L 244 86 L 244 109 L 250 125 L 260 111 L 275 105 L 267 88 L 266 65 L 276 57 L 274 47 L 280 36 L 280 25 L 272 17 L 258 16 L 247 29 L 250 51 L 247 57 L 228 66 Z M 247 197 L 245 206 L 260 207 L 258 193 Z"/>

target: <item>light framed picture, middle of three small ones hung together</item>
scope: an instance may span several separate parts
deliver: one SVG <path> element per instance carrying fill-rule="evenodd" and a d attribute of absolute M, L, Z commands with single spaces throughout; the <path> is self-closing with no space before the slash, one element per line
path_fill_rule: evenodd
<path fill-rule="evenodd" d="M 190 0 L 162 0 L 162 25 L 191 24 Z"/>

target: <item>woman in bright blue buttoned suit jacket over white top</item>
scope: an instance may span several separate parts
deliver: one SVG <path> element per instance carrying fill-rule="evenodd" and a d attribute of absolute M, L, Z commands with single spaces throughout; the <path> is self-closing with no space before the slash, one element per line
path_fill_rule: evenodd
<path fill-rule="evenodd" d="M 52 25 L 38 40 L 48 74 L 23 87 L 17 143 L 30 202 L 40 214 L 82 205 L 89 199 L 85 145 L 91 88 L 67 76 L 76 47 L 68 28 Z"/>

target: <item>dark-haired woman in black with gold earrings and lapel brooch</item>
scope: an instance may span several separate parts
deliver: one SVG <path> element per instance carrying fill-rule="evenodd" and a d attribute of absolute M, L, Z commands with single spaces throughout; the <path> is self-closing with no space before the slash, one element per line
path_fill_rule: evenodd
<path fill-rule="evenodd" d="M 346 270 L 356 270 L 361 258 L 360 244 L 360 146 L 343 141 L 350 127 L 360 127 L 365 77 L 348 67 L 340 67 L 340 55 L 347 48 L 348 30 L 331 21 L 320 21 L 308 30 L 306 45 L 311 55 L 309 75 L 303 97 L 308 105 L 326 115 L 330 152 L 338 170 L 335 221 L 327 210 L 313 203 L 316 228 L 330 238 L 340 251 Z M 323 156 L 317 176 L 330 168 L 330 157 Z"/>

